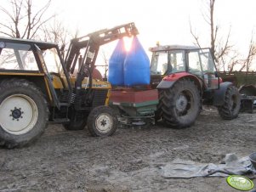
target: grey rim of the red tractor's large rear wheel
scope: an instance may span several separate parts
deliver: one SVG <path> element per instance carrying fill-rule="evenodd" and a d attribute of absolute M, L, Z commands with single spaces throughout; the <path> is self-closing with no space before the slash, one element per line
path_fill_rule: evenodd
<path fill-rule="evenodd" d="M 193 106 L 193 101 L 194 99 L 190 91 L 185 90 L 179 93 L 175 102 L 175 108 L 178 116 L 187 115 Z"/>

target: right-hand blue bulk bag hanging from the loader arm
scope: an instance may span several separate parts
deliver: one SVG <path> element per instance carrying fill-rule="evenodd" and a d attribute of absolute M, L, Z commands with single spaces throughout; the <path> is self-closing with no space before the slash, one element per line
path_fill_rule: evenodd
<path fill-rule="evenodd" d="M 148 85 L 151 82 L 150 59 L 137 37 L 124 60 L 124 85 Z"/>

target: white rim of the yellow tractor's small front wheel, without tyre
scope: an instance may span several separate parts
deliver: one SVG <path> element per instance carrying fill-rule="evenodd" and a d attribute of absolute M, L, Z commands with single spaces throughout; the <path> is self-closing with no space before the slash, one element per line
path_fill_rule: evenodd
<path fill-rule="evenodd" d="M 113 120 L 107 113 L 102 113 L 96 118 L 95 127 L 100 133 L 108 133 L 113 126 Z"/>

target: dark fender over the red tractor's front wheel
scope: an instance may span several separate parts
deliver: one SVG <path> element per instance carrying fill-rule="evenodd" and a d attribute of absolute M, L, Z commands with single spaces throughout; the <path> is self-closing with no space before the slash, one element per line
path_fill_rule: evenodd
<path fill-rule="evenodd" d="M 225 97 L 225 92 L 228 87 L 233 85 L 232 82 L 221 82 L 219 84 L 219 89 L 214 90 L 213 93 L 213 105 L 214 106 L 221 106 L 224 104 L 224 97 Z"/>

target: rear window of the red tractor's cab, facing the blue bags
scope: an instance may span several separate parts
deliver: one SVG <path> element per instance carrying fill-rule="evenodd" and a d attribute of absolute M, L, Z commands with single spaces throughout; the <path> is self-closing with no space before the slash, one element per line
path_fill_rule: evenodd
<path fill-rule="evenodd" d="M 185 71 L 184 51 L 154 52 L 151 59 L 151 75 L 168 75 Z"/>

